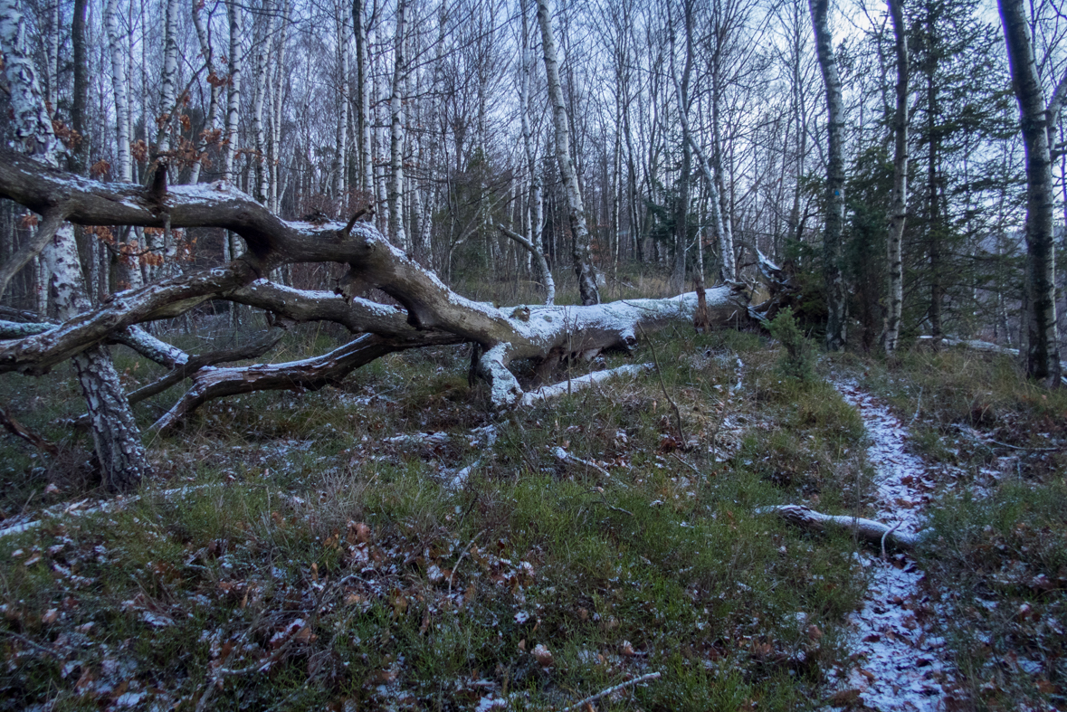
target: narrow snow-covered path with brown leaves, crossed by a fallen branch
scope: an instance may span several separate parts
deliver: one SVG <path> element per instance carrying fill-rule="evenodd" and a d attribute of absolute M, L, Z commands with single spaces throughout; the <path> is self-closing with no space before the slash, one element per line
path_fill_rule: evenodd
<path fill-rule="evenodd" d="M 867 459 L 876 470 L 877 519 L 897 531 L 918 533 L 934 482 L 922 459 L 906 451 L 907 428 L 883 404 L 855 383 L 833 386 L 863 419 L 871 437 Z M 955 674 L 944 640 L 934 633 L 934 602 L 925 575 L 904 555 L 859 554 L 871 573 L 863 605 L 849 616 L 849 647 L 857 665 L 831 670 L 833 701 L 879 712 L 940 712 L 952 707 Z"/>

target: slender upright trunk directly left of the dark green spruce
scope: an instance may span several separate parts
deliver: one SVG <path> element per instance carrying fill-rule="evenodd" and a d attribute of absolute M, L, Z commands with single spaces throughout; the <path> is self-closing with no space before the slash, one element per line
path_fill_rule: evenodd
<path fill-rule="evenodd" d="M 904 271 L 901 241 L 908 216 L 908 32 L 902 0 L 888 0 L 896 45 L 896 111 L 893 113 L 893 201 L 889 211 L 889 314 L 886 353 L 896 353 L 904 304 Z"/>

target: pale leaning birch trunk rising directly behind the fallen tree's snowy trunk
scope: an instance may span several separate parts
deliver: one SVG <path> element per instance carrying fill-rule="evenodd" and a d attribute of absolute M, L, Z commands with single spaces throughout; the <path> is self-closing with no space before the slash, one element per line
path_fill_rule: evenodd
<path fill-rule="evenodd" d="M 559 81 L 559 62 L 556 59 L 556 41 L 552 34 L 552 19 L 548 16 L 548 1 L 538 0 L 537 18 L 541 25 L 541 45 L 544 49 L 544 69 L 548 79 L 548 97 L 553 106 L 553 120 L 556 128 L 556 161 L 559 163 L 563 193 L 567 197 L 567 216 L 571 225 L 574 273 L 578 278 L 578 292 L 585 305 L 599 304 L 596 275 L 590 262 L 589 228 L 586 226 L 586 209 L 582 204 L 578 176 L 571 157 L 570 129 L 567 124 L 567 104 L 563 87 Z"/>

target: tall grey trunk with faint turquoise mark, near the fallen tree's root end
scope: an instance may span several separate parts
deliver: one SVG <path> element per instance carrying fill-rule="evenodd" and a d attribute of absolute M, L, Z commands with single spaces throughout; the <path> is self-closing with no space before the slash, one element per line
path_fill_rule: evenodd
<path fill-rule="evenodd" d="M 845 104 L 841 98 L 841 78 L 833 54 L 829 26 L 829 0 L 809 0 L 818 66 L 826 86 L 826 128 L 828 133 L 826 166 L 826 225 L 823 233 L 823 281 L 826 289 L 826 347 L 839 351 L 845 345 L 845 288 L 841 274 L 841 233 L 845 220 Z"/>

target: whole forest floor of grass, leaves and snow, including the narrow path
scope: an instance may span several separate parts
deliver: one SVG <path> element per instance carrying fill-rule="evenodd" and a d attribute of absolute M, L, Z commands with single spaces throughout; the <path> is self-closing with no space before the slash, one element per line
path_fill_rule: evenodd
<path fill-rule="evenodd" d="M 273 360 L 334 343 L 299 336 Z M 1067 709 L 1067 393 L 990 354 L 783 358 L 670 329 L 571 375 L 658 371 L 498 418 L 466 350 L 394 355 L 206 405 L 122 498 L 69 372 L 6 375 L 60 454 L 0 440 L 0 710 Z"/>

